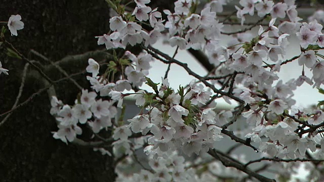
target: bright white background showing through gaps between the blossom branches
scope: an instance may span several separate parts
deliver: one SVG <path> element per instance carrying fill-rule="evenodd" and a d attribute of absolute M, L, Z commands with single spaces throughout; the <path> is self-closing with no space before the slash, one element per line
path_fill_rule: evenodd
<path fill-rule="evenodd" d="M 257 31 L 258 29 L 254 29 Z M 222 43 L 226 45 L 226 41 L 228 41 L 228 37 L 224 36 L 222 39 Z M 176 48 L 172 48 L 170 45 L 163 44 L 161 41 L 157 42 L 153 45 L 154 48 L 173 56 Z M 285 59 L 290 59 L 296 55 L 300 54 L 300 47 L 299 41 L 296 36 L 290 37 L 290 45 L 288 49 L 288 53 L 285 56 Z M 188 67 L 198 73 L 201 76 L 205 76 L 207 71 L 203 68 L 195 59 L 185 50 L 179 50 L 175 59 L 185 62 L 188 64 Z M 168 65 L 164 64 L 158 60 L 155 60 L 152 64 L 152 69 L 150 69 L 148 77 L 151 78 L 154 82 L 161 82 L 161 77 L 164 77 L 165 72 L 167 70 Z M 305 67 L 306 68 L 306 67 Z M 284 82 L 292 79 L 297 78 L 301 75 L 302 67 L 298 65 L 298 61 L 294 61 L 292 63 L 282 65 L 281 70 L 278 74 L 279 78 L 282 79 Z M 311 72 L 308 68 L 305 69 L 305 74 L 308 77 L 311 77 Z M 188 84 L 194 77 L 187 74 L 187 72 L 180 66 L 175 64 L 171 65 L 171 70 L 168 75 L 170 86 L 174 89 L 179 88 L 179 85 L 186 85 Z M 149 86 L 146 84 L 142 85 L 143 89 L 151 90 Z M 311 104 L 317 104 L 317 101 L 324 100 L 324 96 L 319 94 L 316 88 L 312 88 L 312 86 L 304 83 L 302 86 L 298 87 L 295 90 L 294 99 L 297 101 L 298 106 L 306 107 Z M 223 99 L 218 101 L 218 106 L 225 104 Z"/>

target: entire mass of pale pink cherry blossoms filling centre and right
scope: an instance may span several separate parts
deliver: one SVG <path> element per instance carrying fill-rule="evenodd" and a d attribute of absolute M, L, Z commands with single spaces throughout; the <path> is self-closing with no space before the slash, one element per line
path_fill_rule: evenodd
<path fill-rule="evenodd" d="M 322 25 L 315 18 L 309 23 L 301 23 L 295 1 L 240 0 L 240 7 L 235 8 L 241 24 L 245 23 L 245 16 L 253 16 L 255 12 L 261 20 L 268 18 L 270 22 L 260 25 L 255 35 L 247 31 L 226 33 L 231 37 L 227 45 L 220 43 L 224 25 L 216 16 L 223 11 L 225 0 L 211 1 L 200 13 L 196 13 L 199 1 L 179 0 L 174 3 L 174 11 L 163 10 L 167 19 L 163 19 L 157 9 L 148 7 L 149 0 L 136 0 L 135 3 L 133 12 L 116 6 L 118 15 L 109 20 L 111 31 L 97 37 L 98 44 L 105 44 L 114 54 L 103 74 L 100 74 L 99 63 L 89 59 L 86 70 L 92 76 L 87 79 L 95 92 L 83 90 L 72 107 L 53 98 L 51 113 L 59 122 L 54 138 L 72 142 L 76 134 L 82 132 L 78 125 L 88 123 L 94 133 L 111 128 L 114 155 L 136 155 L 135 150 L 146 146 L 144 151 L 151 159 L 152 170 L 141 170 L 132 176 L 120 172 L 118 180 L 121 181 L 126 178 L 136 181 L 197 179 L 190 174 L 193 169 L 184 167 L 184 158 L 173 152 L 202 156 L 217 149 L 215 142 L 224 135 L 275 158 L 295 159 L 305 157 L 306 151 L 324 152 L 324 147 L 316 149 L 324 145 L 318 134 L 324 126 L 321 108 L 324 102 L 319 102 L 316 108 L 304 109 L 296 107 L 293 99 L 293 91 L 304 82 L 314 87 L 324 84 L 324 61 L 320 60 L 324 56 L 318 52 L 324 47 Z M 215 68 L 202 77 L 175 60 L 175 56 L 171 58 L 155 51 L 150 45 L 163 37 L 162 34 L 171 47 L 177 47 L 176 50 L 194 49 L 206 54 Z M 283 60 L 292 35 L 300 40 L 301 54 Z M 127 45 L 136 44 L 142 44 L 145 51 L 139 54 L 125 51 L 117 56 L 116 48 L 126 49 Z M 147 77 L 153 57 L 182 66 L 196 79 L 186 87 L 179 86 L 178 90 L 170 87 L 168 78 L 154 83 Z M 281 65 L 295 60 L 301 66 L 301 75 L 287 82 L 280 80 L 277 73 Z M 312 75 L 305 75 L 304 69 L 310 69 Z M 153 92 L 141 89 L 144 82 Z M 106 96 L 109 100 L 96 99 Z M 117 107 L 123 108 L 124 98 L 129 96 L 136 99 L 135 104 L 141 112 L 127 121 L 123 117 L 117 121 L 113 103 L 118 101 Z M 219 98 L 237 107 L 216 112 L 215 99 Z M 246 123 L 245 129 L 226 130 L 237 121 Z M 140 137 L 133 139 L 133 134 Z M 235 138 L 236 135 L 244 137 L 246 142 Z M 96 150 L 110 155 L 104 149 Z M 209 167 L 219 164 L 212 163 Z M 233 173 L 242 176 L 239 171 Z M 209 179 L 209 174 L 203 175 L 205 180 Z"/>

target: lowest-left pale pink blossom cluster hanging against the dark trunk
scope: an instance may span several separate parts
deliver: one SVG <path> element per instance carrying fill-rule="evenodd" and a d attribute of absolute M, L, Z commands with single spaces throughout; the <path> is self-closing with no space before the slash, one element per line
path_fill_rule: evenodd
<path fill-rule="evenodd" d="M 51 114 L 58 121 L 57 132 L 53 132 L 55 139 L 60 139 L 67 144 L 73 142 L 77 134 L 82 134 L 79 124 L 88 124 L 94 133 L 112 125 L 111 119 L 117 114 L 117 109 L 112 101 L 96 100 L 95 92 L 82 90 L 82 94 L 75 105 L 64 105 L 53 96 L 51 101 Z"/>

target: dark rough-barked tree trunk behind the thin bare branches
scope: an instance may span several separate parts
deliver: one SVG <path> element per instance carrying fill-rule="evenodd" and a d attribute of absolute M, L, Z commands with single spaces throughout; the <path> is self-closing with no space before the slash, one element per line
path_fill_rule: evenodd
<path fill-rule="evenodd" d="M 109 8 L 104 0 L 2 0 L 0 12 L 0 21 L 21 15 L 24 29 L 17 37 L 7 32 L 6 38 L 26 57 L 42 63 L 42 59 L 28 54 L 30 49 L 53 61 L 103 49 L 94 36 L 106 33 L 109 27 Z M 25 65 L 22 60 L 8 58 L 5 52 L 2 45 L 0 60 L 10 71 L 9 76 L 0 75 L 0 114 L 14 104 Z M 63 68 L 69 74 L 83 71 L 87 59 L 79 61 Z M 36 73 L 29 67 L 20 102 L 44 86 L 33 75 Z M 55 69 L 49 76 L 53 80 L 63 77 Z M 75 79 L 89 87 L 85 74 Z M 68 80 L 56 84 L 55 89 L 58 98 L 67 104 L 73 104 L 79 92 Z M 49 111 L 45 92 L 13 112 L 0 127 L 0 181 L 114 181 L 111 157 L 53 139 L 51 131 L 57 131 L 57 125 Z M 0 117 L 0 122 L 3 119 Z M 88 138 L 89 133 L 85 131 L 83 137 Z"/>

